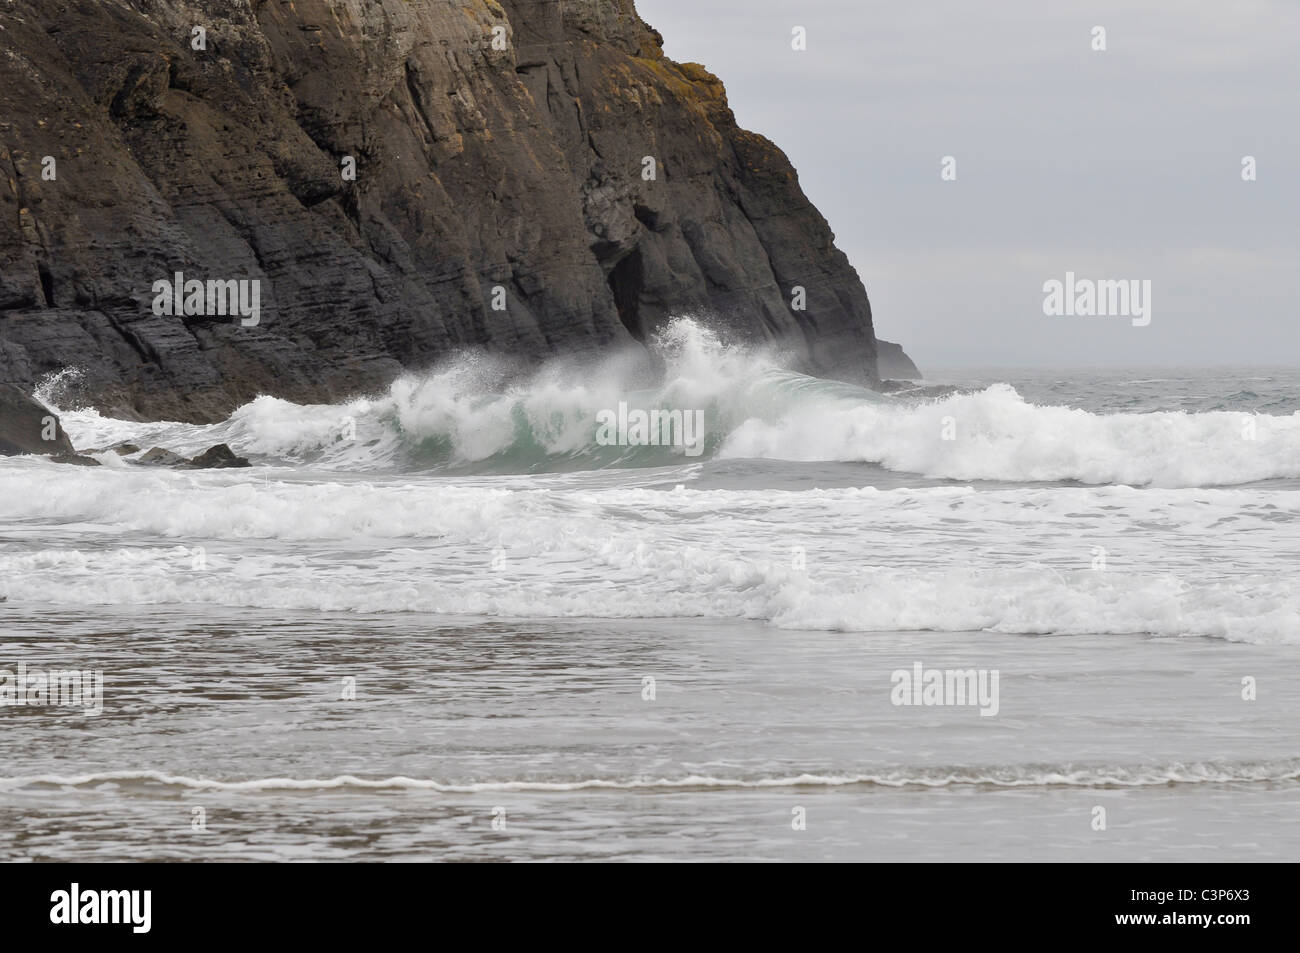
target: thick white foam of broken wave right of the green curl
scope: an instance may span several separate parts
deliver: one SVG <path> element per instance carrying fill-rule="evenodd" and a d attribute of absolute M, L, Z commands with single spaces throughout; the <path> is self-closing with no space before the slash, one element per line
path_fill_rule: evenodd
<path fill-rule="evenodd" d="M 1036 407 L 998 384 L 914 407 L 838 400 L 750 419 L 722 455 L 861 460 L 953 480 L 1213 486 L 1300 477 L 1300 415 L 1101 415 Z"/>

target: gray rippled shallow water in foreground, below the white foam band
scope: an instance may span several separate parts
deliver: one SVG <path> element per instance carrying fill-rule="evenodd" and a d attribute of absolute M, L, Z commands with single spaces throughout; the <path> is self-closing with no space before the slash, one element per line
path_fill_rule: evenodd
<path fill-rule="evenodd" d="M 205 615 L 42 611 L 8 627 L 4 657 L 101 667 L 105 689 L 98 716 L 5 712 L 0 857 L 1284 859 L 1300 846 L 1287 646 Z M 890 673 L 915 662 L 998 670 L 997 716 L 894 706 Z"/>

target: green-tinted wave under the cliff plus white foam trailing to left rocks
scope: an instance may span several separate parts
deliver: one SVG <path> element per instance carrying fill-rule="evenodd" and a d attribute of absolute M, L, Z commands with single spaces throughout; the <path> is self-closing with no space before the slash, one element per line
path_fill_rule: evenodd
<path fill-rule="evenodd" d="M 737 429 L 881 399 L 788 371 L 779 355 L 724 346 L 679 319 L 649 348 L 525 372 L 463 352 L 386 393 L 338 404 L 263 395 L 220 424 L 135 426 L 94 411 L 77 423 L 96 434 L 86 438 L 91 446 L 126 441 L 192 455 L 229 443 L 272 465 L 526 475 L 705 462 L 725 455 Z"/>

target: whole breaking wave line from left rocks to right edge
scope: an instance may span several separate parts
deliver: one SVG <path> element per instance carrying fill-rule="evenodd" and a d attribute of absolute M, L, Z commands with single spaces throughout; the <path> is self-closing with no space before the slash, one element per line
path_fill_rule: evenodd
<path fill-rule="evenodd" d="M 1093 413 L 1028 403 L 1005 384 L 885 397 L 724 346 L 689 319 L 660 334 L 653 356 L 653 372 L 616 355 L 554 361 L 517 378 L 500 361 L 468 355 L 339 404 L 260 397 L 203 426 L 72 410 L 64 425 L 81 450 L 129 441 L 196 452 L 226 442 L 255 463 L 360 472 L 538 473 L 762 458 L 870 463 L 956 481 L 1187 488 L 1300 478 L 1300 412 Z M 55 390 L 46 389 L 47 400 Z M 680 441 L 602 445 L 599 415 L 620 403 L 699 411 L 698 455 Z"/>

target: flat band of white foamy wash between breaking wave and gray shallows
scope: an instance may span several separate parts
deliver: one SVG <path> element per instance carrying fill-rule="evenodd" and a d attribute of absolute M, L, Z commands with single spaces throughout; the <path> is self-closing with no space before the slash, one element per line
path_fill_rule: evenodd
<path fill-rule="evenodd" d="M 659 491 L 243 473 L 0 463 L 0 523 L 29 540 L 0 554 L 8 611 L 191 603 L 1300 641 L 1295 490 Z"/>

